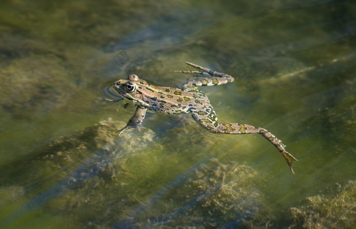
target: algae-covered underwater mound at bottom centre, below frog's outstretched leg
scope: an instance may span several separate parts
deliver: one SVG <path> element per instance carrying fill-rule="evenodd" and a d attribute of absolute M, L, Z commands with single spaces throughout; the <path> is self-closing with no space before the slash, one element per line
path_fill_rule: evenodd
<path fill-rule="evenodd" d="M 138 227 L 235 227 L 251 219 L 262 206 L 251 179 L 257 172 L 236 162 L 217 158 L 194 170 L 187 181 L 161 199 L 162 211 L 147 211 Z M 159 209 L 159 207 L 157 208 Z"/>

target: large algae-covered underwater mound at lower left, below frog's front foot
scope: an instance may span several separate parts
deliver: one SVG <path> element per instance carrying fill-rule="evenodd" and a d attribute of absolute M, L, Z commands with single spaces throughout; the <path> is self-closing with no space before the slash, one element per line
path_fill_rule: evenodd
<path fill-rule="evenodd" d="M 33 158 L 10 164 L 9 167 L 16 164 L 13 169 L 2 168 L 1 173 L 4 176 L 1 179 L 0 193 L 4 194 L 4 198 L 0 225 L 4 225 L 4 222 L 6 225 L 7 220 L 4 219 L 13 219 L 11 225 L 20 226 L 21 219 L 34 212 L 38 215 L 32 219 L 35 221 L 55 216 L 54 218 L 65 217 L 63 221 L 66 224 L 71 222 L 77 225 L 83 221 L 87 223 L 87 220 L 109 208 L 103 206 L 101 196 L 105 196 L 104 203 L 108 205 L 111 205 L 109 199 L 112 196 L 119 198 L 119 202 L 124 199 L 130 201 L 127 193 L 132 193 L 132 190 L 117 192 L 122 186 L 116 183 L 120 179 L 123 183 L 126 180 L 127 183 L 136 185 L 132 178 L 134 175 L 125 168 L 132 165 L 132 161 L 127 161 L 130 159 L 125 152 L 113 153 L 116 131 L 122 125 L 122 122 L 113 122 L 110 119 L 101 121 L 71 135 L 53 139 L 47 146 L 37 150 L 37 155 Z M 127 146 L 142 149 L 143 145 L 152 140 L 151 131 L 140 133 L 137 133 L 140 140 L 134 140 L 135 142 L 131 142 L 129 137 L 121 138 L 123 141 L 118 142 L 122 147 L 121 152 Z M 130 153 L 134 152 L 132 150 Z M 14 180 L 16 185 L 13 185 Z M 126 202 L 124 204 L 129 206 Z M 21 209 L 27 209 L 27 213 L 23 213 Z M 116 215 L 118 212 L 112 213 Z"/>

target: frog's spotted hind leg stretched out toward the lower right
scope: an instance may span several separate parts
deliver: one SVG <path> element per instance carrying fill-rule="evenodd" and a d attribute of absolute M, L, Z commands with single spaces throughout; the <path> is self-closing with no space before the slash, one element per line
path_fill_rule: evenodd
<path fill-rule="evenodd" d="M 210 113 L 205 113 L 204 111 L 197 111 L 192 113 L 193 119 L 199 123 L 202 127 L 209 130 L 212 133 L 221 133 L 221 134 L 249 134 L 249 133 L 258 133 L 261 134 L 264 138 L 269 140 L 272 145 L 274 145 L 278 151 L 283 155 L 285 160 L 288 163 L 290 171 L 294 174 L 292 168 L 292 162 L 298 161 L 288 153 L 284 149 L 284 145 L 282 141 L 279 140 L 275 135 L 269 132 L 266 129 L 260 127 L 254 127 L 247 124 L 240 124 L 240 123 L 223 123 L 219 124 L 218 119 L 215 115 L 215 111 L 211 110 Z"/>

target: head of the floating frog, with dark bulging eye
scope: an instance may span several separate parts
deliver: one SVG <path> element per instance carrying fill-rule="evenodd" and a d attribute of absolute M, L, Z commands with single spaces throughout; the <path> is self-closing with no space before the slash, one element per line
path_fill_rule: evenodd
<path fill-rule="evenodd" d="M 147 106 L 143 100 L 142 87 L 148 83 L 139 79 L 137 75 L 131 74 L 127 79 L 119 79 L 112 83 L 112 87 L 124 98 L 133 101 L 135 105 Z"/>

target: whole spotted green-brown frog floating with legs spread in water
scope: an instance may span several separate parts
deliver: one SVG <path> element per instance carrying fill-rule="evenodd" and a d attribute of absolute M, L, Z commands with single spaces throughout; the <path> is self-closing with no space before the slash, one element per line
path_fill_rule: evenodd
<path fill-rule="evenodd" d="M 120 130 L 125 130 L 141 125 L 146 111 L 161 113 L 163 115 L 174 115 L 180 113 L 191 113 L 193 119 L 202 127 L 212 133 L 222 134 L 248 134 L 259 133 L 269 140 L 283 155 L 290 170 L 292 162 L 297 161 L 289 154 L 275 135 L 268 130 L 240 123 L 219 124 L 213 106 L 209 99 L 198 88 L 198 86 L 215 86 L 232 82 L 234 78 L 230 75 L 212 71 L 201 66 L 186 62 L 198 71 L 173 71 L 193 74 L 184 84 L 182 89 L 157 87 L 139 79 L 137 75 L 129 75 L 127 79 L 113 82 L 113 88 L 123 97 L 131 100 L 137 106 L 134 115 L 127 125 Z M 120 135 L 119 134 L 119 135 Z"/>

